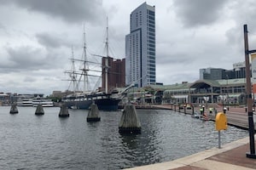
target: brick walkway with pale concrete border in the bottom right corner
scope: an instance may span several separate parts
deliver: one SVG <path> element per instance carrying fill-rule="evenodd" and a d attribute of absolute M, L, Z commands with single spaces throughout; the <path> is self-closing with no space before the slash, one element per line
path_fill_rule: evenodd
<path fill-rule="evenodd" d="M 132 167 L 129 170 L 255 170 L 256 159 L 246 156 L 247 152 L 250 153 L 248 143 L 247 137 L 224 144 L 221 149 L 212 148 L 174 161 Z"/>

